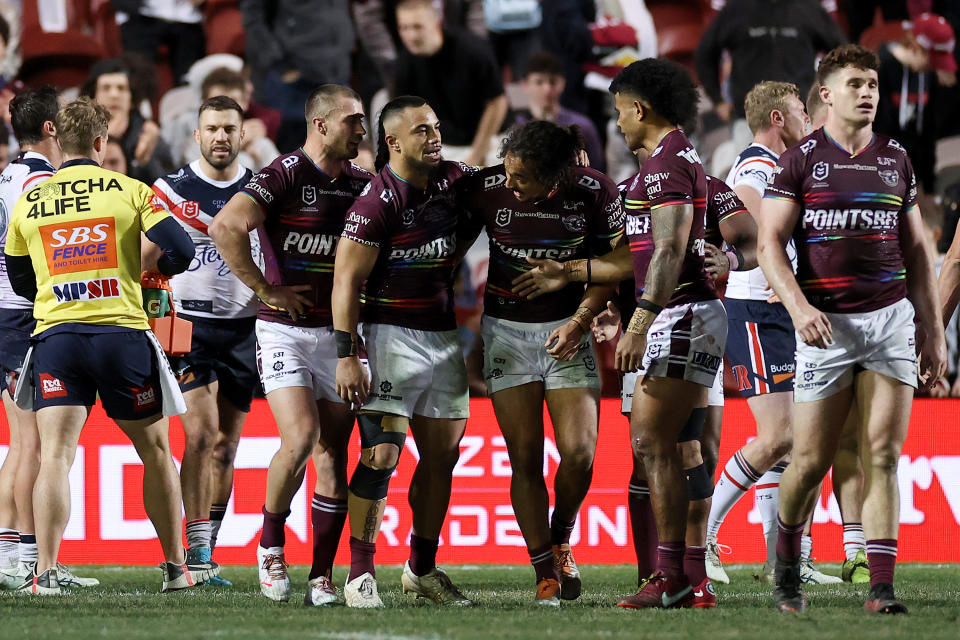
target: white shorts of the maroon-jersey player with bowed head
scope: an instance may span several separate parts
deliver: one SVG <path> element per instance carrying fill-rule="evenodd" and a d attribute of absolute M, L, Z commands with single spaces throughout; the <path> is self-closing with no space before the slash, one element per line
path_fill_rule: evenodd
<path fill-rule="evenodd" d="M 544 389 L 599 389 L 600 376 L 593 340 L 584 335 L 580 351 L 569 362 L 561 362 L 543 346 L 554 329 L 568 320 L 556 322 L 516 322 L 483 316 L 483 377 L 487 392 L 542 382 Z"/>

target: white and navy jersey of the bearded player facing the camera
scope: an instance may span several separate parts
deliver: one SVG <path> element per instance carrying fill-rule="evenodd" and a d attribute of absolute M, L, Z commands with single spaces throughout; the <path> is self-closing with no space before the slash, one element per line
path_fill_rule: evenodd
<path fill-rule="evenodd" d="M 153 183 L 153 191 L 173 214 L 196 246 L 190 266 L 171 278 L 177 313 L 202 318 L 249 318 L 257 315 L 257 297 L 233 275 L 207 235 L 207 225 L 217 212 L 247 184 L 249 169 L 239 167 L 232 180 L 211 180 L 195 160 Z M 260 264 L 260 240 L 250 233 L 254 262 Z"/>

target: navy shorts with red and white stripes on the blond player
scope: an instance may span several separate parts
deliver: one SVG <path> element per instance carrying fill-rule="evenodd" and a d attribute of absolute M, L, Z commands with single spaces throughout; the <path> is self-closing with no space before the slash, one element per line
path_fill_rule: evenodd
<path fill-rule="evenodd" d="M 782 304 L 764 300 L 723 302 L 727 309 L 727 360 L 744 398 L 793 391 L 796 338 Z"/>

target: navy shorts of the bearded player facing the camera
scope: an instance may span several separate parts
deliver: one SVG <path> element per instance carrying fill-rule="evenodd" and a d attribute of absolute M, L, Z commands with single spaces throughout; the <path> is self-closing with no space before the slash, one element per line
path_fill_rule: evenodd
<path fill-rule="evenodd" d="M 250 411 L 253 392 L 260 384 L 256 317 L 214 319 L 184 313 L 179 317 L 193 323 L 190 353 L 170 359 L 180 390 L 186 393 L 219 381 L 220 395 L 237 409 Z"/>

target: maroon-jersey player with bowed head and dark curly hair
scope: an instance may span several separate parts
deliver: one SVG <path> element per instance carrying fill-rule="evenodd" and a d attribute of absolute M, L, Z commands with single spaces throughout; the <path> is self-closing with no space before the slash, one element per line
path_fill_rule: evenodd
<path fill-rule="evenodd" d="M 577 167 L 580 134 L 535 121 L 511 131 L 503 164 L 460 180 L 457 202 L 471 240 L 490 239 L 484 296 L 484 376 L 507 443 L 510 496 L 537 578 L 536 602 L 558 606 L 580 596 L 570 548 L 577 512 L 590 488 L 600 408 L 600 378 L 590 322 L 612 285 L 570 283 L 530 300 L 512 292 L 527 258 L 602 255 L 623 235 L 617 186 Z M 543 404 L 553 421 L 560 464 L 555 506 L 543 479 Z"/>

